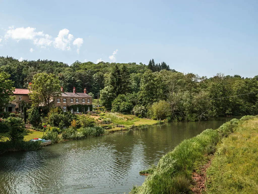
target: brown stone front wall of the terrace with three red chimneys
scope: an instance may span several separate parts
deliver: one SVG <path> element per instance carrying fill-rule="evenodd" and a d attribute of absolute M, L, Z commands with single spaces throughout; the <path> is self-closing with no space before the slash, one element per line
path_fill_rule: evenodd
<path fill-rule="evenodd" d="M 57 102 L 57 99 L 60 99 L 60 103 Z M 60 107 L 63 110 L 63 107 L 68 107 L 68 106 L 72 106 L 72 105 L 92 105 L 92 98 L 87 98 L 87 97 L 77 97 L 77 98 L 73 98 L 73 97 L 66 97 L 66 103 L 63 102 L 64 97 L 56 97 L 54 99 L 54 106 L 55 107 Z M 71 103 L 71 99 L 73 99 L 73 103 Z M 78 99 L 78 103 L 76 103 L 76 99 Z M 85 103 L 82 102 L 82 99 L 85 99 Z M 90 102 L 88 103 L 88 99 L 90 100 Z M 74 110 L 76 111 L 76 110 Z"/>

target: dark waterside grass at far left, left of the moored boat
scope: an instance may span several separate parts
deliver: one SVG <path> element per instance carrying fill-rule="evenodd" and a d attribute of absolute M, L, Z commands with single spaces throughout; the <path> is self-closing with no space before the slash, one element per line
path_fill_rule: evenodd
<path fill-rule="evenodd" d="M 5 152 L 14 151 L 33 151 L 40 150 L 42 146 L 40 142 L 30 142 L 30 141 L 0 141 L 0 154 Z"/>

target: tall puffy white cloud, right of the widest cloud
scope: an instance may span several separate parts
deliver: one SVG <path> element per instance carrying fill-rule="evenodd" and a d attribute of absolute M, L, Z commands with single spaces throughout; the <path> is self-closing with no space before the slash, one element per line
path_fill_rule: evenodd
<path fill-rule="evenodd" d="M 72 34 L 68 34 L 68 29 L 62 29 L 59 31 L 57 38 L 54 40 L 54 47 L 61 50 L 70 50 L 70 42 L 74 38 Z"/>

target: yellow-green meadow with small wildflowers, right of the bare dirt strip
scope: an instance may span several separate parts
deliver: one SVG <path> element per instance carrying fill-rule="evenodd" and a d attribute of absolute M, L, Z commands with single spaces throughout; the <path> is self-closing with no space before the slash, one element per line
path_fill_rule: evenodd
<path fill-rule="evenodd" d="M 207 169 L 207 194 L 257 193 L 258 118 L 242 121 L 214 155 Z"/>

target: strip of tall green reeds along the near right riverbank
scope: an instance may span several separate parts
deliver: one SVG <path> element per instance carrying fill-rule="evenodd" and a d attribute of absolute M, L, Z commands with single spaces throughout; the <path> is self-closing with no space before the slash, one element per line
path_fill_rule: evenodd
<path fill-rule="evenodd" d="M 196 137 L 182 141 L 173 151 L 164 155 L 157 166 L 141 172 L 149 176 L 141 186 L 134 186 L 130 194 L 190 192 L 192 171 L 207 160 L 207 155 L 215 151 L 216 143 L 233 132 L 238 122 L 232 119 L 219 129 L 206 129 Z"/>

